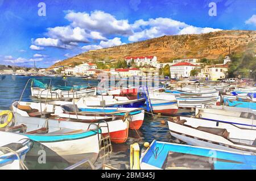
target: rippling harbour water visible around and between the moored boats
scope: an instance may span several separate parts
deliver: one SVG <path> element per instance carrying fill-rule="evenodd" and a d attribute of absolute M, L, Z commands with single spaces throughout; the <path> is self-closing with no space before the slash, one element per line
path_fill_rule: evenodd
<path fill-rule="evenodd" d="M 2 75 L 1 75 L 2 76 Z M 14 100 L 19 100 L 20 95 L 24 89 L 24 86 L 27 83 L 27 80 L 30 78 L 37 77 L 23 77 L 23 76 L 14 76 L 6 75 L 5 78 L 0 78 L 0 110 L 9 110 L 11 103 Z M 49 77 L 38 77 L 43 83 L 49 82 Z M 63 79 L 61 77 L 53 77 L 52 85 L 55 86 L 69 86 L 69 85 L 88 85 L 97 86 L 97 80 L 86 80 L 77 77 L 68 77 Z M 23 99 L 24 101 L 33 101 L 31 99 L 30 85 L 24 91 Z M 188 111 L 182 111 L 182 115 L 191 115 Z M 164 120 L 165 124 L 160 122 Z M 129 159 L 130 159 L 130 145 L 138 142 L 141 148 L 145 141 L 152 142 L 153 140 L 158 141 L 167 141 L 167 142 L 176 142 L 175 138 L 171 137 L 170 132 L 168 131 L 167 117 L 154 116 L 145 113 L 144 123 L 138 131 L 129 131 L 129 137 L 125 144 L 113 144 L 113 153 L 109 158 L 105 159 L 105 163 L 112 165 L 118 169 L 130 169 Z M 32 164 L 32 163 L 31 163 Z M 96 167 L 102 166 L 102 161 L 96 163 Z"/>

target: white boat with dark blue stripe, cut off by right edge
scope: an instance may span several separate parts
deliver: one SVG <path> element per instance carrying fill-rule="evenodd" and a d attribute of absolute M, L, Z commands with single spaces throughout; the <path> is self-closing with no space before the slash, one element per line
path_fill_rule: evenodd
<path fill-rule="evenodd" d="M 196 109 L 196 117 L 203 118 L 206 121 L 233 124 L 239 128 L 256 129 L 256 117 L 254 113 L 214 109 Z"/>

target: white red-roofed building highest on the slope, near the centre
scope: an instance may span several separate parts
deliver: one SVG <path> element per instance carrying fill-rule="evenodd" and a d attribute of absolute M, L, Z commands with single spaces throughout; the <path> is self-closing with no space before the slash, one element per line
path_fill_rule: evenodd
<path fill-rule="evenodd" d="M 137 66 L 151 65 L 154 66 L 157 64 L 156 56 L 141 56 L 141 57 L 125 57 L 127 64 L 130 64 L 134 60 Z"/>

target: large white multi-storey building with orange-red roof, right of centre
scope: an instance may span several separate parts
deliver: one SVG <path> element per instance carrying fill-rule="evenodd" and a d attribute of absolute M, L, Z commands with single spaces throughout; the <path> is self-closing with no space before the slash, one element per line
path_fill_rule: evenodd
<path fill-rule="evenodd" d="M 171 78 L 184 78 L 189 77 L 190 72 L 193 69 L 196 69 L 197 65 L 191 64 L 189 62 L 179 62 L 170 66 Z"/>

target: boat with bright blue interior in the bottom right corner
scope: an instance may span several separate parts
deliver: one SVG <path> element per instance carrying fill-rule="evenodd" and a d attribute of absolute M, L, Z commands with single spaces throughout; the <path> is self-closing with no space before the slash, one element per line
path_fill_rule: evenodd
<path fill-rule="evenodd" d="M 141 169 L 256 169 L 256 155 L 172 144 L 154 140 L 144 152 Z"/>

